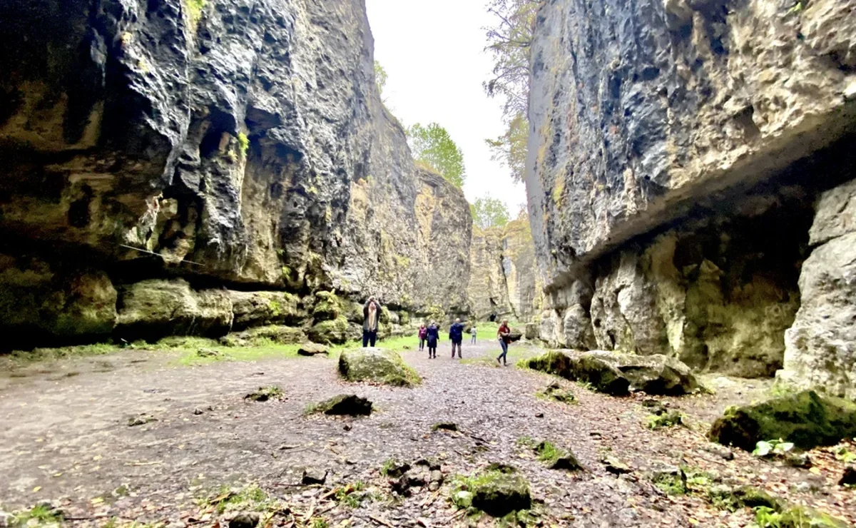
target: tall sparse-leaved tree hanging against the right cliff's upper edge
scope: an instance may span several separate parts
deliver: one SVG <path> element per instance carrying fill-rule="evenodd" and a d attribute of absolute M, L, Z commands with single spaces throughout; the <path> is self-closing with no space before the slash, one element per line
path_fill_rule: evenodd
<path fill-rule="evenodd" d="M 496 139 L 486 139 L 493 159 L 511 169 L 514 181 L 523 181 L 526 170 L 526 140 L 529 121 L 529 59 L 538 0 L 493 0 L 488 12 L 496 15 L 496 27 L 487 28 L 488 46 L 493 55 L 493 76 L 484 83 L 490 97 L 505 98 L 503 114 L 508 126 Z"/>

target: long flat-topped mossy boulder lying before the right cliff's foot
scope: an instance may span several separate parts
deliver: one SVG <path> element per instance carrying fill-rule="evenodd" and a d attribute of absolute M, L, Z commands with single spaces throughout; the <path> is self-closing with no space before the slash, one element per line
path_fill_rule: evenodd
<path fill-rule="evenodd" d="M 591 383 L 610 395 L 643 390 L 652 395 L 685 395 L 699 385 L 687 365 L 663 355 L 551 351 L 526 360 L 526 366 L 574 381 Z"/>

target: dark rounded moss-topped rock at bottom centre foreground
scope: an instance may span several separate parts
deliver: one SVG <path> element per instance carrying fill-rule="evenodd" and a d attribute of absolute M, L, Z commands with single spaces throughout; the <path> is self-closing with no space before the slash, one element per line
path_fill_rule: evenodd
<path fill-rule="evenodd" d="M 532 507 L 529 483 L 511 466 L 491 465 L 474 479 L 473 507 L 492 517 Z"/>

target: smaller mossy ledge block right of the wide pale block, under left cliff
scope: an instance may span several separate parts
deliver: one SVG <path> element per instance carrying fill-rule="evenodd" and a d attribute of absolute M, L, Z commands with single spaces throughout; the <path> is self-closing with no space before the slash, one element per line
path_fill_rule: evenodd
<path fill-rule="evenodd" d="M 300 298 L 286 292 L 238 292 L 230 290 L 232 330 L 272 324 L 299 325 L 306 312 L 300 310 Z"/>

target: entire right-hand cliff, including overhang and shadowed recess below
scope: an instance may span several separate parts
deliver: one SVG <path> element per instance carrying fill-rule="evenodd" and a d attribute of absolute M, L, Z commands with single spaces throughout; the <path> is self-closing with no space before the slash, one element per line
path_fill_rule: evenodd
<path fill-rule="evenodd" d="M 854 12 L 544 3 L 527 176 L 542 338 L 741 376 L 784 365 L 854 394 L 853 342 L 823 310 L 856 297 L 829 291 L 848 283 L 847 259 L 822 257 L 849 233 L 837 186 L 856 177 Z"/>

